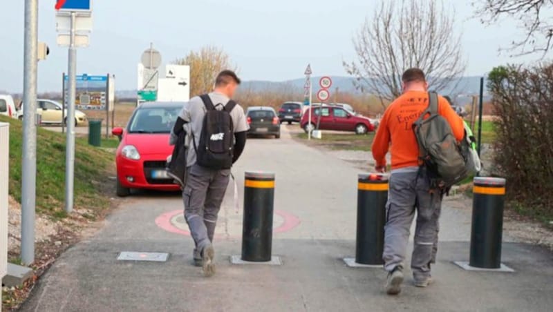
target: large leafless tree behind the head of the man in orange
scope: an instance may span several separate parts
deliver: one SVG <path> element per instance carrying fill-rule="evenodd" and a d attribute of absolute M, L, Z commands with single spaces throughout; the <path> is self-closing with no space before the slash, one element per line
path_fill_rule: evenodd
<path fill-rule="evenodd" d="M 466 67 L 461 35 L 455 32 L 454 14 L 436 2 L 380 1 L 353 38 L 357 61 L 344 61 L 356 88 L 377 95 L 386 106 L 401 95 L 401 75 L 408 68 L 424 70 L 434 90 L 458 82 Z"/>

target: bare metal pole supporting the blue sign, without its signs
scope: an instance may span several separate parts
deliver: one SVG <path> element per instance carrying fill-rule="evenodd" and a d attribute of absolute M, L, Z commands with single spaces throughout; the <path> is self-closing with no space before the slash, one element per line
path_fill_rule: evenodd
<path fill-rule="evenodd" d="M 77 48 L 75 48 L 76 13 L 71 12 L 71 35 L 68 52 L 67 136 L 65 157 L 65 212 L 73 211 L 73 182 L 75 170 L 75 85 L 77 72 Z"/>

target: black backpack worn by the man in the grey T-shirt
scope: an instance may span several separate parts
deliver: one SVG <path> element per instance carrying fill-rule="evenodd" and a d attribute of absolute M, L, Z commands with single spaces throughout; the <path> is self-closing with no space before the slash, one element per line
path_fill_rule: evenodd
<path fill-rule="evenodd" d="M 234 154 L 234 124 L 230 112 L 236 106 L 236 102 L 230 100 L 222 110 L 217 110 L 209 95 L 201 95 L 205 105 L 205 117 L 203 119 L 200 144 L 196 149 L 196 162 L 198 165 L 212 169 L 229 169 L 232 167 Z M 194 138 L 194 135 L 192 135 Z"/>

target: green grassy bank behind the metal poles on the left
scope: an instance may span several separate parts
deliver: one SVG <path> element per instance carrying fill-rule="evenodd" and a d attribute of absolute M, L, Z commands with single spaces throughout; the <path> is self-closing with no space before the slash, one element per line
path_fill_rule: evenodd
<path fill-rule="evenodd" d="M 21 121 L 0 116 L 10 124 L 10 195 L 21 202 Z M 115 139 L 116 140 L 116 139 Z M 106 141 L 113 146 L 113 140 Z M 102 142 L 104 145 L 104 142 Z M 100 211 L 109 207 L 102 195 L 111 185 L 107 177 L 113 174 L 113 153 L 88 146 L 86 139 L 75 140 L 75 207 Z M 38 213 L 55 219 L 67 217 L 65 197 L 65 135 L 37 128 L 37 197 Z"/>

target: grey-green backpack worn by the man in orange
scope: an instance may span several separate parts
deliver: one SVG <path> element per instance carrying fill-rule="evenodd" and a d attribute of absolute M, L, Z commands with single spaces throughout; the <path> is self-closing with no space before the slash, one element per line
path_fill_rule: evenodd
<path fill-rule="evenodd" d="M 425 117 L 427 117 L 425 119 Z M 413 123 L 422 166 L 431 188 L 449 188 L 468 176 L 466 159 L 447 119 L 438 114 L 438 95 L 429 92 L 429 106 Z"/>

